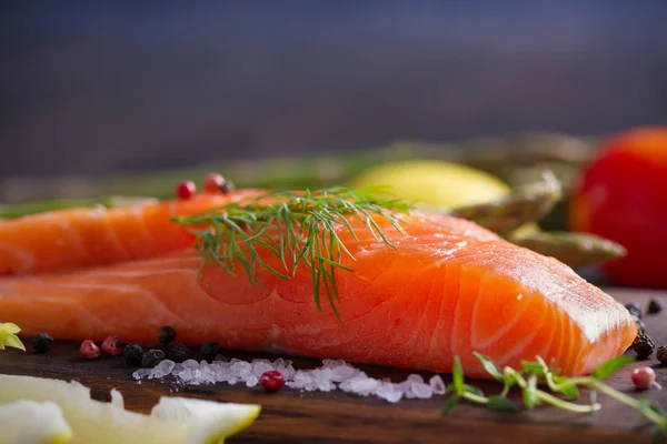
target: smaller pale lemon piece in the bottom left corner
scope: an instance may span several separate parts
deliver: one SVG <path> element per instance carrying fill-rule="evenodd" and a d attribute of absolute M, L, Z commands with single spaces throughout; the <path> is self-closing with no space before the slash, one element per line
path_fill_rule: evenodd
<path fill-rule="evenodd" d="M 70 428 L 52 401 L 16 401 L 0 405 L 0 444 L 66 444 Z"/>

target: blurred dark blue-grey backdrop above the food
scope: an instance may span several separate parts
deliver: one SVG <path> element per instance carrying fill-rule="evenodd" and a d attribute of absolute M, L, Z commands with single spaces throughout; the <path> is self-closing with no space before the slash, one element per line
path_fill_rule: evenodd
<path fill-rule="evenodd" d="M 3 1 L 0 178 L 667 123 L 667 1 Z"/>

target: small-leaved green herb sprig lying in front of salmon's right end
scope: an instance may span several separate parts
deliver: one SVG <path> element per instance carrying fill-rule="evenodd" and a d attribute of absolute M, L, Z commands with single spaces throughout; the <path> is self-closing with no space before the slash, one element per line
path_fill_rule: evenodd
<path fill-rule="evenodd" d="M 486 396 L 479 387 L 466 384 L 460 361 L 456 356 L 452 365 L 452 382 L 447 385 L 446 393 L 449 396 L 442 408 L 442 415 L 449 413 L 462 400 L 484 404 L 497 411 L 519 412 L 519 405 L 507 397 L 514 386 L 521 391 L 524 406 L 527 410 L 532 410 L 541 404 L 550 404 L 567 412 L 595 414 L 601 408 L 601 405 L 597 402 L 597 392 L 600 392 L 628 405 L 639 415 L 654 422 L 658 426 L 657 437 L 660 440 L 667 434 L 667 416 L 660 405 L 650 400 L 637 400 L 628 396 L 603 382 L 625 365 L 634 362 L 633 356 L 619 356 L 609 360 L 591 372 L 589 376 L 578 377 L 560 376 L 558 370 L 547 365 L 545 360 L 539 356 L 536 357 L 535 362 L 522 361 L 521 370 L 509 366 L 500 370 L 488 356 L 479 353 L 475 353 L 475 356 L 479 360 L 484 370 L 502 384 L 502 390 L 497 395 Z M 540 389 L 538 382 L 546 385 L 548 391 Z M 579 398 L 579 387 L 588 389 L 588 403 L 586 404 L 573 402 Z M 565 400 L 557 395 L 561 395 Z"/>

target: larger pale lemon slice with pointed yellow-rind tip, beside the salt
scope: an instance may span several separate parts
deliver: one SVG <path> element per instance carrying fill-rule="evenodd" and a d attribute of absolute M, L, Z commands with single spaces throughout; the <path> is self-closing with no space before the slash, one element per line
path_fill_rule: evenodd
<path fill-rule="evenodd" d="M 18 400 L 57 403 L 73 431 L 71 443 L 212 444 L 249 426 L 260 406 L 183 397 L 161 397 L 150 415 L 125 410 L 113 391 L 111 403 L 91 400 L 77 383 L 0 375 L 0 404 Z M 0 421 L 0 430 L 4 424 Z M 37 442 L 36 442 L 37 443 Z"/>

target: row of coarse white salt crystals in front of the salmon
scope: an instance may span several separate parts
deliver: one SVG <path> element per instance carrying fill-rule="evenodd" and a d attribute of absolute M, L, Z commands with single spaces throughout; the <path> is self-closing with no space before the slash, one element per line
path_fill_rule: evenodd
<path fill-rule="evenodd" d="M 255 387 L 259 384 L 261 374 L 272 370 L 282 373 L 285 385 L 302 392 L 340 390 L 359 396 L 376 396 L 390 403 L 397 403 L 404 397 L 428 400 L 445 394 L 445 382 L 440 375 L 434 375 L 427 382 L 418 374 L 410 374 L 406 381 L 394 383 L 370 377 L 342 360 L 323 360 L 322 365 L 313 370 L 296 370 L 291 361 L 282 357 L 273 362 L 266 359 L 248 362 L 238 359 L 226 361 L 222 355 L 218 355 L 211 363 L 187 360 L 181 364 L 165 360 L 153 369 L 137 370 L 133 377 L 139 383 L 141 380 L 171 376 L 183 385 L 227 383 Z"/>

